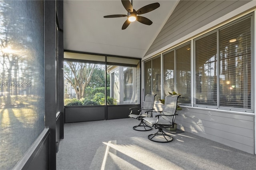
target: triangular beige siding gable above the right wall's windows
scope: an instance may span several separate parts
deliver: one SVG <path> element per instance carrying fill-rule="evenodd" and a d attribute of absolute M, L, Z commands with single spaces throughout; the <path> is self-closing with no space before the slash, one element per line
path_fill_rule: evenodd
<path fill-rule="evenodd" d="M 247 0 L 181 0 L 145 56 L 248 3 Z"/>

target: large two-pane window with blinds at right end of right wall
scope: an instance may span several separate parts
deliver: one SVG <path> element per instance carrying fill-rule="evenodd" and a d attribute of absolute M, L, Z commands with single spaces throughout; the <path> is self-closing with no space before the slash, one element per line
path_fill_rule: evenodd
<path fill-rule="evenodd" d="M 244 17 L 195 42 L 196 105 L 251 108 L 252 17 Z"/>

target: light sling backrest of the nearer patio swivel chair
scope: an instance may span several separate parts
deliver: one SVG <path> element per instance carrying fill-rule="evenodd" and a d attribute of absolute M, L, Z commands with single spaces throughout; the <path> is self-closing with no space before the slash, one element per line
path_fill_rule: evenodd
<path fill-rule="evenodd" d="M 176 113 L 178 98 L 180 95 L 167 95 L 164 99 L 164 109 L 162 111 L 163 115 L 174 115 Z M 170 123 L 174 123 L 174 116 L 162 116 L 163 119 L 169 121 Z"/>

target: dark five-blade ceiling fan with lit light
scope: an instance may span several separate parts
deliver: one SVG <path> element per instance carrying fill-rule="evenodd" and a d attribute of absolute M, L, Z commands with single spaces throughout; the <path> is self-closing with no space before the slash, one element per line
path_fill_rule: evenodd
<path fill-rule="evenodd" d="M 151 20 L 149 20 L 148 18 L 145 18 L 143 16 L 138 16 L 138 15 L 145 14 L 147 12 L 155 10 L 156 8 L 158 8 L 160 6 L 160 4 L 158 2 L 156 2 L 153 4 L 143 6 L 142 8 L 140 8 L 139 10 L 136 11 L 132 8 L 132 3 L 129 0 L 121 0 L 121 1 L 122 1 L 124 8 L 128 12 L 128 14 L 127 15 L 122 15 L 122 14 L 107 15 L 107 16 L 104 16 L 104 18 L 117 18 L 117 17 L 127 16 L 128 19 L 124 22 L 124 24 L 122 26 L 122 30 L 126 29 L 129 26 L 130 22 L 134 22 L 136 20 L 142 24 L 151 25 L 153 23 Z"/>

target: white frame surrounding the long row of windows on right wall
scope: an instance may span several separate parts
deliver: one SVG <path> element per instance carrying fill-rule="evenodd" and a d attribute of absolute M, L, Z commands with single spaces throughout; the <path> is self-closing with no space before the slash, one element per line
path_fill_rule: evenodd
<path fill-rule="evenodd" d="M 251 52 L 251 65 L 250 65 L 250 108 L 241 108 L 241 107 L 224 107 L 224 106 L 220 106 L 220 94 L 218 93 L 220 91 L 220 38 L 219 38 L 219 31 L 225 28 L 228 28 L 229 26 L 232 26 L 238 22 L 241 22 L 242 20 L 246 20 L 250 18 L 250 24 L 251 24 L 251 28 L 250 28 L 250 38 L 251 38 L 251 45 L 250 45 L 250 52 Z M 243 112 L 243 113 L 253 113 L 254 112 L 254 86 L 255 86 L 255 73 L 254 73 L 254 53 L 255 53 L 255 47 L 254 47 L 254 32 L 255 32 L 255 28 L 254 28 L 254 12 L 246 14 L 244 16 L 241 16 L 240 18 L 237 18 L 236 20 L 232 20 L 230 22 L 227 22 L 221 26 L 215 26 L 214 28 L 210 29 L 210 30 L 206 30 L 205 32 L 203 32 L 202 34 L 198 34 L 197 36 L 194 36 L 192 38 L 190 38 L 189 40 L 187 40 L 186 42 L 181 42 L 177 45 L 174 45 L 172 48 L 166 49 L 156 55 L 154 55 L 154 57 L 151 57 L 150 59 L 147 59 L 144 62 L 144 88 L 146 88 L 146 83 L 145 83 L 145 75 L 147 73 L 147 71 L 145 70 L 145 65 L 147 62 L 151 62 L 151 67 L 150 69 L 152 69 L 152 60 L 156 59 L 156 57 L 161 56 L 161 75 L 162 75 L 162 88 L 161 88 L 161 95 L 162 98 L 165 96 L 164 95 L 164 54 L 174 51 L 174 76 L 176 76 L 176 49 L 187 45 L 188 43 L 190 43 L 191 46 L 191 51 L 190 51 L 190 55 L 191 55 L 191 60 L 190 60 L 190 68 L 191 68 L 191 103 L 179 103 L 179 105 L 181 106 L 186 106 L 186 107 L 194 107 L 194 108 L 207 108 L 207 109 L 217 109 L 217 110 L 222 110 L 222 111 L 238 111 L 238 112 Z M 201 38 L 204 38 L 210 34 L 213 34 L 214 32 L 216 32 L 217 34 L 217 53 L 216 53 L 216 77 L 217 77 L 217 105 L 216 106 L 212 106 L 212 105 L 199 105 L 196 104 L 196 50 L 195 50 L 195 42 L 196 40 L 199 40 Z M 151 71 L 152 72 L 152 71 Z M 152 74 L 152 73 L 151 73 Z M 176 77 L 174 77 L 174 89 L 175 91 L 177 90 L 176 88 Z M 151 76 L 151 92 L 152 92 L 152 76 Z M 182 94 L 181 94 L 182 95 Z M 145 94 L 144 94 L 145 96 Z M 158 101 L 157 101 L 158 103 Z"/>

